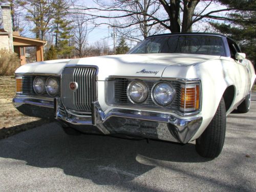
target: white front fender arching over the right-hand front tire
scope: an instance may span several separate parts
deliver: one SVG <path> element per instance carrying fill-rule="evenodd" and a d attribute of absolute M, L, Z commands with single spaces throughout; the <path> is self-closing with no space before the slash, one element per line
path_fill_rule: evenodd
<path fill-rule="evenodd" d="M 220 100 L 229 86 L 235 87 L 236 95 L 236 66 L 224 60 L 211 60 L 195 65 L 197 77 L 201 79 L 202 85 L 202 108 L 203 123 L 199 131 L 191 139 L 197 139 L 206 129 L 215 116 Z M 235 101 L 235 100 L 234 100 Z M 230 109 L 234 105 L 231 104 Z"/>

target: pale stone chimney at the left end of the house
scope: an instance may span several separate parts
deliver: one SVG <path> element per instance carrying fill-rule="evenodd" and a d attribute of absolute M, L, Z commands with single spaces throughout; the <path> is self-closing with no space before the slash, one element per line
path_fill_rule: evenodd
<path fill-rule="evenodd" d="M 1 5 L 4 30 L 9 33 L 9 49 L 13 52 L 11 6 Z"/>

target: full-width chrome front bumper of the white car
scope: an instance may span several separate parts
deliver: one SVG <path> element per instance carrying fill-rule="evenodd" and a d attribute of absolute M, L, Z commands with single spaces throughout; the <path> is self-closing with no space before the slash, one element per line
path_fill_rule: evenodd
<path fill-rule="evenodd" d="M 190 141 L 203 120 L 202 117 L 180 119 L 170 114 L 133 109 L 112 109 L 104 113 L 98 101 L 93 103 L 92 115 L 88 116 L 70 113 L 59 98 L 54 102 L 14 98 L 13 103 L 22 113 L 26 109 L 26 115 L 44 117 L 48 114 L 54 116 L 62 125 L 71 126 L 84 133 L 121 134 L 180 143 Z M 52 108 L 53 113 L 49 108 Z M 44 112 L 42 109 L 46 109 L 46 114 L 38 115 Z"/>

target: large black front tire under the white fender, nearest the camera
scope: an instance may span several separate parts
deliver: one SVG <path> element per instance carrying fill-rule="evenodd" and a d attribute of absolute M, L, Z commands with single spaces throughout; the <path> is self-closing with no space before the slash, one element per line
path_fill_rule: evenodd
<path fill-rule="evenodd" d="M 220 155 L 226 134 L 226 108 L 223 97 L 217 112 L 203 134 L 196 140 L 197 153 L 206 158 Z"/>

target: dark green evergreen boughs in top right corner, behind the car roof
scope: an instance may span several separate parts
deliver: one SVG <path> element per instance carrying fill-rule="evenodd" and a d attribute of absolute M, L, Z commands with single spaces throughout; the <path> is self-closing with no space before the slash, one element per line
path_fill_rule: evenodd
<path fill-rule="evenodd" d="M 229 8 L 242 9 L 228 14 L 225 23 L 211 23 L 220 33 L 226 34 L 239 42 L 242 52 L 247 58 L 256 64 L 256 2 L 221 0 L 222 4 Z M 245 10 L 245 11 L 244 11 Z"/>

